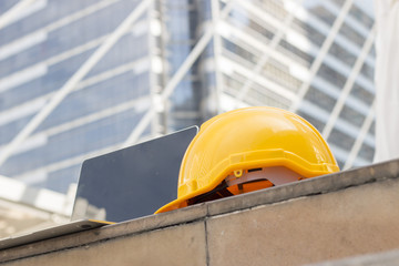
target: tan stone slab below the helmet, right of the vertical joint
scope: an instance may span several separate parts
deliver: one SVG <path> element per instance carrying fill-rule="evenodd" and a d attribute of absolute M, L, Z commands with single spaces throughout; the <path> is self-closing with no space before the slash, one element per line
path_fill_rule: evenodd
<path fill-rule="evenodd" d="M 399 180 L 386 180 L 211 217 L 209 265 L 303 265 L 399 248 L 398 192 Z"/>

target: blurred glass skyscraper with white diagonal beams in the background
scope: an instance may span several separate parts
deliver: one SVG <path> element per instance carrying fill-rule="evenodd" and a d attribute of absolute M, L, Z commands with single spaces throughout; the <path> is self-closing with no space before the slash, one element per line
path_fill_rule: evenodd
<path fill-rule="evenodd" d="M 73 195 L 83 160 L 249 105 L 369 164 L 374 38 L 371 0 L 2 0 L 0 177 L 35 192 L 3 205 L 68 216 L 39 195 Z"/>

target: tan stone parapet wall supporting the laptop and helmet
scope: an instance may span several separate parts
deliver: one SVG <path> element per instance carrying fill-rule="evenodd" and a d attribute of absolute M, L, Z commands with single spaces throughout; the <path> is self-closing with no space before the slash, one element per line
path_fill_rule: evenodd
<path fill-rule="evenodd" d="M 0 262 L 304 265 L 399 248 L 398 221 L 391 161 L 9 248 Z"/>

